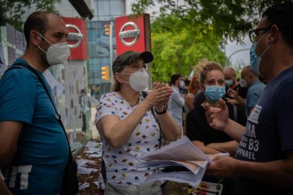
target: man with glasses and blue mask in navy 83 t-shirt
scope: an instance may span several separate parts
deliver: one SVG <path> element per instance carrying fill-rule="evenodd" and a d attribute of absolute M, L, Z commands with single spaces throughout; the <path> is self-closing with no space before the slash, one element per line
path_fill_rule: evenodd
<path fill-rule="evenodd" d="M 292 194 L 293 2 L 267 8 L 249 31 L 251 67 L 268 81 L 246 126 L 205 105 L 207 122 L 239 142 L 236 158 L 218 156 L 206 174 L 236 177 L 238 194 Z"/>

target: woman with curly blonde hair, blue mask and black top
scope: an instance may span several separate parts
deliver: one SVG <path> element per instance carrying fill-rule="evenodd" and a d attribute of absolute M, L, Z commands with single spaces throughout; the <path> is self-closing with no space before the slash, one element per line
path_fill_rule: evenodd
<path fill-rule="evenodd" d="M 204 90 L 195 95 L 193 110 L 186 117 L 186 136 L 206 154 L 233 154 L 236 152 L 238 143 L 223 132 L 212 129 L 205 119 L 205 110 L 202 107 L 208 102 L 213 107 L 219 108 L 219 100 L 226 94 L 222 66 L 205 59 L 197 65 L 197 68 L 200 69 L 199 80 Z M 233 106 L 229 104 L 229 108 L 233 117 Z M 204 177 L 203 181 L 218 183 L 219 178 Z M 222 184 L 224 186 L 222 194 L 235 194 L 234 179 L 224 179 Z"/>

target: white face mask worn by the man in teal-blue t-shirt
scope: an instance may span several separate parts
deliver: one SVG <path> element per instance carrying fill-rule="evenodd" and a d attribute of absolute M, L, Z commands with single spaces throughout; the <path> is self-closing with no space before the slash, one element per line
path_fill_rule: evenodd
<path fill-rule="evenodd" d="M 43 37 L 39 32 L 38 34 Z M 59 42 L 52 44 L 50 41 L 48 41 L 45 37 L 43 37 L 47 42 L 50 43 L 50 47 L 47 49 L 47 52 L 45 52 L 40 46 L 38 47 L 47 54 L 47 61 L 48 63 L 53 66 L 57 64 L 64 64 L 65 61 L 67 61 L 69 55 L 70 55 L 70 50 L 68 47 L 67 42 Z"/>

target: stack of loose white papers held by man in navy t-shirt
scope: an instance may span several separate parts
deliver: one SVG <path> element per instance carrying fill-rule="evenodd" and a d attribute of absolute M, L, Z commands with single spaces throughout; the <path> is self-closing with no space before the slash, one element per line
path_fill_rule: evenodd
<path fill-rule="evenodd" d="M 228 155 L 228 154 L 222 154 Z M 158 167 L 159 171 L 149 175 L 147 181 L 166 179 L 174 182 L 188 183 L 197 187 L 200 184 L 207 165 L 212 162 L 215 155 L 205 155 L 197 148 L 187 136 L 180 138 L 178 141 L 171 142 L 159 150 L 146 155 L 141 155 L 141 162 L 138 167 Z M 187 170 L 169 172 L 163 169 L 169 166 L 185 167 Z M 168 170 L 168 172 L 166 172 Z"/>

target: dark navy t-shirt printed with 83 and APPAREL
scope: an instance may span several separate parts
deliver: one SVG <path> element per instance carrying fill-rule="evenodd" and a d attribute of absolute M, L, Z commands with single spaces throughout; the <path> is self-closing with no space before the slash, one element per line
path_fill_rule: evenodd
<path fill-rule="evenodd" d="M 268 83 L 248 117 L 245 132 L 236 151 L 237 159 L 269 162 L 283 159 L 286 150 L 293 150 L 292 89 L 293 67 L 282 71 Z M 243 177 L 237 179 L 237 185 L 239 194 L 286 193 L 285 189 L 277 189 Z"/>

